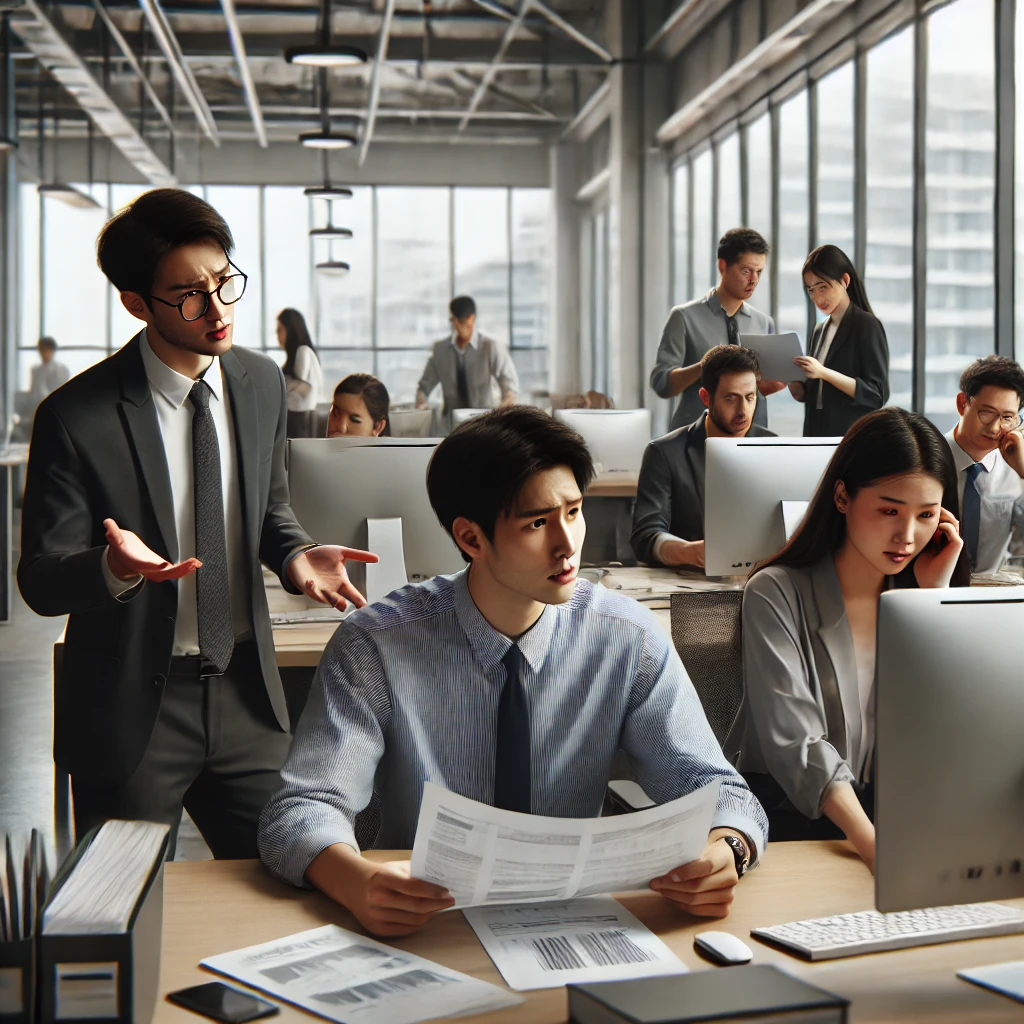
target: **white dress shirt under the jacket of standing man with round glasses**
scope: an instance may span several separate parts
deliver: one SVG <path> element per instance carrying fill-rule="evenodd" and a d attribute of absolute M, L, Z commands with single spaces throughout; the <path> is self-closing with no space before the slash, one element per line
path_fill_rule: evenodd
<path fill-rule="evenodd" d="M 174 500 L 174 528 L 178 541 L 178 561 L 196 555 L 196 497 L 193 486 L 191 422 L 193 404 L 188 392 L 195 381 L 179 374 L 165 364 L 150 347 L 145 331 L 142 332 L 139 351 L 150 380 L 160 433 L 164 439 L 164 454 L 171 478 L 171 496 Z M 210 412 L 217 428 L 220 443 L 220 479 L 224 495 L 224 527 L 227 535 L 227 578 L 231 595 L 231 624 L 236 639 L 251 632 L 249 608 L 249 582 L 245 569 L 243 546 L 242 489 L 239 485 L 238 454 L 234 446 L 234 420 L 231 403 L 227 400 L 220 359 L 214 358 L 203 380 L 212 393 Z M 119 523 L 118 525 L 123 525 Z M 115 597 L 126 594 L 138 585 L 141 578 L 118 580 L 104 558 L 103 578 L 108 590 Z M 198 569 L 202 572 L 202 568 Z M 178 610 L 174 624 L 174 647 L 171 653 L 199 653 L 199 620 L 196 605 L 196 573 L 190 572 L 178 581 Z"/>

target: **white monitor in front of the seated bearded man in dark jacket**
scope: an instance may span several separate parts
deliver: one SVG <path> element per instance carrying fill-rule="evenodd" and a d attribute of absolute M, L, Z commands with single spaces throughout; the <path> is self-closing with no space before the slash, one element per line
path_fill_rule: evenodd
<path fill-rule="evenodd" d="M 744 575 L 782 547 L 840 440 L 708 438 L 703 509 L 708 575 Z"/>

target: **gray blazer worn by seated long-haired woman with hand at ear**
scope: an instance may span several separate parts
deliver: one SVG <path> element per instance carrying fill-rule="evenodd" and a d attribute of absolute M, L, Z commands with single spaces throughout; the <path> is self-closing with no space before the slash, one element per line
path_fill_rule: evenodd
<path fill-rule="evenodd" d="M 793 806 L 821 814 L 833 782 L 860 763 L 853 636 L 831 556 L 810 568 L 772 565 L 743 592 L 743 702 L 724 744 L 741 772 L 771 775 Z"/>

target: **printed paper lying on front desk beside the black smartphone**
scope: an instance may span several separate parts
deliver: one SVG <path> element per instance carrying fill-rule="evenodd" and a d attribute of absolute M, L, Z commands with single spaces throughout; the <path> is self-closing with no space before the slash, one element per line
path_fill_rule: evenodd
<path fill-rule="evenodd" d="M 337 925 L 210 956 L 202 966 L 342 1024 L 414 1024 L 522 1001 Z"/>

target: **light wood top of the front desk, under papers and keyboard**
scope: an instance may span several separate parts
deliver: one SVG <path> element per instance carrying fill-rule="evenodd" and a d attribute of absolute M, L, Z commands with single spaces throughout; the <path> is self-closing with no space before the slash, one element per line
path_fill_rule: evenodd
<path fill-rule="evenodd" d="M 375 852 L 374 859 L 395 854 Z M 1024 1008 L 1004 996 L 961 981 L 955 972 L 1001 961 L 1024 959 L 1024 936 L 977 939 L 898 952 L 808 964 L 764 946 L 751 928 L 872 905 L 870 876 L 846 843 L 779 843 L 764 863 L 743 880 L 735 907 L 722 923 L 708 924 L 675 910 L 653 893 L 622 897 L 691 970 L 708 965 L 693 952 L 696 932 L 720 928 L 741 937 L 754 963 L 776 964 L 793 974 L 853 1000 L 850 1020 L 995 1024 L 1024 1020 Z M 1024 906 L 1024 900 L 1011 901 Z M 354 928 L 346 910 L 319 893 L 291 889 L 255 861 L 191 861 L 168 864 L 164 896 L 161 1000 L 155 1021 L 193 1022 L 196 1017 L 164 1001 L 169 991 L 211 980 L 198 964 L 205 956 L 337 924 Z M 504 986 L 501 975 L 459 912 L 436 916 L 419 934 L 392 943 L 485 981 Z M 726 970 L 726 969 L 722 969 Z M 554 1024 L 565 1021 L 565 990 L 522 993 L 519 1008 L 472 1018 L 495 1024 Z M 283 1022 L 311 1020 L 290 1007 Z M 469 1020 L 469 1018 L 466 1018 Z"/>

